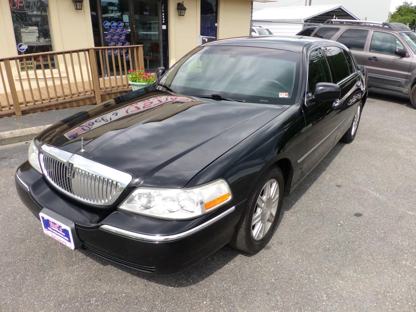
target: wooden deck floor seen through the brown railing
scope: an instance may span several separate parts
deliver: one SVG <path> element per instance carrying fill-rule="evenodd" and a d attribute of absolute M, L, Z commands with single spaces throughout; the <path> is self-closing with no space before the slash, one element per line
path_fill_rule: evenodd
<path fill-rule="evenodd" d="M 131 91 L 131 87 L 126 84 L 125 77 L 117 77 L 117 84 L 115 83 L 114 77 L 111 77 L 110 79 L 111 83 L 109 78 L 99 79 L 101 87 L 100 94 L 104 97 L 103 100 Z M 104 85 L 106 86 L 106 89 L 104 89 Z M 55 84 L 55 86 L 48 85 L 47 87 L 40 87 L 39 89 L 35 87 L 32 90 L 25 89 L 23 92 L 17 91 L 17 97 L 23 114 L 53 108 L 58 109 L 95 104 L 96 101 L 92 82 L 88 80 L 79 81 L 77 83 L 72 82 L 70 84 L 64 83 L 62 85 Z M 0 118 L 15 115 L 10 95 L 8 104 L 7 95 L 4 93 L 0 94 L 0 105 Z"/>

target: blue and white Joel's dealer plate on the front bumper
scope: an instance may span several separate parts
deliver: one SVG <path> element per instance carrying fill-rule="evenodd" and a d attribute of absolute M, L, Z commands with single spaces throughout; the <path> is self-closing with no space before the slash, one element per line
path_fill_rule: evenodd
<path fill-rule="evenodd" d="M 69 225 L 59 222 L 42 212 L 39 213 L 39 216 L 43 232 L 46 235 L 56 239 L 59 243 L 62 243 L 71 249 L 75 249 L 74 237 Z"/>

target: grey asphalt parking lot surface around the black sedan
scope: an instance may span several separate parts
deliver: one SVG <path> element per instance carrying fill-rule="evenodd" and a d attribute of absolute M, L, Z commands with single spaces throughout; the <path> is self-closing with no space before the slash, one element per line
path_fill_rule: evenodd
<path fill-rule="evenodd" d="M 0 146 L 1 311 L 416 311 L 416 109 L 406 97 L 371 92 L 355 141 L 285 198 L 264 250 L 226 246 L 167 277 L 44 235 L 14 187 L 27 147 Z"/>

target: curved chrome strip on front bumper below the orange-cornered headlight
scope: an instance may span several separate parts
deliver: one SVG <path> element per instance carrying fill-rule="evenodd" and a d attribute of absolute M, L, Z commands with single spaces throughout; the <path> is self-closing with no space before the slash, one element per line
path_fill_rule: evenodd
<path fill-rule="evenodd" d="M 146 241 L 150 241 L 150 242 L 167 242 L 167 241 L 170 241 L 170 240 L 177 240 L 177 239 L 181 239 L 181 238 L 184 238 L 186 236 L 192 235 L 192 234 L 208 227 L 209 225 L 215 223 L 216 221 L 224 218 L 226 215 L 232 213 L 234 210 L 235 210 L 235 206 L 231 207 L 228 210 L 225 210 L 223 213 L 220 213 L 216 217 L 208 220 L 206 223 L 202 223 L 202 224 L 196 226 L 195 228 L 191 228 L 190 230 L 187 230 L 185 232 L 178 233 L 178 234 L 173 234 L 173 235 L 146 235 L 146 234 L 131 232 L 131 231 L 128 231 L 128 230 L 123 230 L 121 228 L 116 228 L 114 226 L 106 225 L 106 224 L 101 225 L 100 228 L 102 228 L 103 230 L 107 230 L 109 232 L 112 232 L 112 233 L 119 234 L 119 235 L 127 236 L 127 237 L 130 237 L 130 238 L 136 238 L 138 240 L 146 240 Z"/>

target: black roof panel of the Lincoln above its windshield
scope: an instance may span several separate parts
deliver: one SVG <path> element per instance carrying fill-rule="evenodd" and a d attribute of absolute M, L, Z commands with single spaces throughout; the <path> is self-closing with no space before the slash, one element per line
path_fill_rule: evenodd
<path fill-rule="evenodd" d="M 280 35 L 264 35 L 253 37 L 239 37 L 231 39 L 220 39 L 210 41 L 204 44 L 207 45 L 233 45 L 241 47 L 262 47 L 279 50 L 288 50 L 293 52 L 302 52 L 305 46 L 310 45 L 312 48 L 319 45 L 332 44 L 342 47 L 338 42 L 332 40 L 325 40 L 321 38 L 308 36 L 280 36 Z"/>

